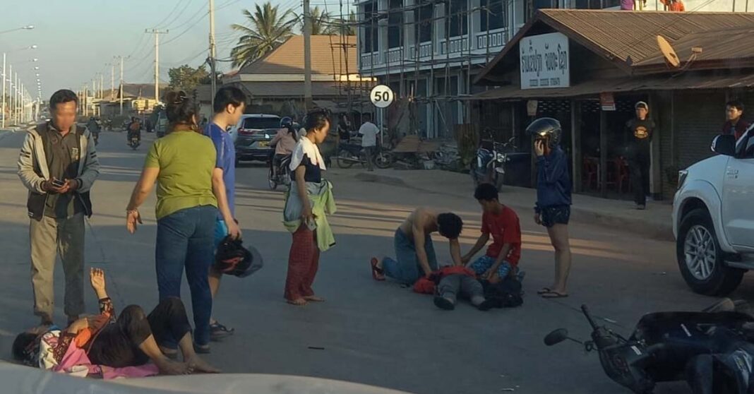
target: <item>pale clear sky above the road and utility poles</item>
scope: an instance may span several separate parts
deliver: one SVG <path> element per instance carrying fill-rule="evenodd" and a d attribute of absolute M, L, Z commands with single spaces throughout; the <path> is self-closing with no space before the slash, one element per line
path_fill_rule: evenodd
<path fill-rule="evenodd" d="M 301 12 L 301 0 L 271 0 L 280 11 Z M 241 11 L 253 11 L 252 0 L 215 0 L 215 32 L 218 59 L 227 59 L 238 34 L 232 23 L 244 23 Z M 344 1 L 348 4 L 348 1 Z M 339 14 L 339 0 L 311 0 Z M 344 8 L 345 9 L 345 8 Z M 81 89 L 103 73 L 110 88 L 113 57 L 130 56 L 124 63 L 124 81 L 152 83 L 155 80 L 155 36 L 145 29 L 169 30 L 160 35 L 160 79 L 167 82 L 170 67 L 188 63 L 198 66 L 207 57 L 209 0 L 0 0 L 0 52 L 19 71 L 26 87 L 36 85 L 40 74 L 42 98 L 61 88 Z M 21 26 L 35 29 L 5 32 Z M 35 50 L 21 50 L 38 45 Z M 31 63 L 38 58 L 37 63 Z M 2 60 L 0 60 L 2 62 Z M 117 63 L 117 62 L 116 62 Z M 2 63 L 0 63 L 2 66 Z M 39 66 L 35 71 L 34 66 Z M 230 63 L 219 63 L 220 71 Z M 115 69 L 118 85 L 120 65 Z M 99 84 L 99 80 L 97 82 Z M 35 88 L 27 88 L 35 95 Z"/>

